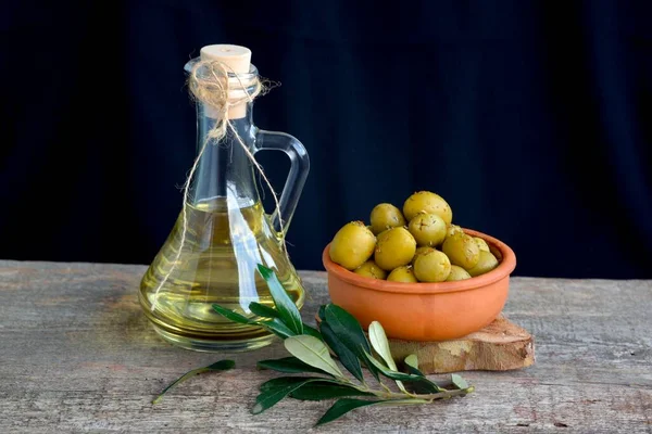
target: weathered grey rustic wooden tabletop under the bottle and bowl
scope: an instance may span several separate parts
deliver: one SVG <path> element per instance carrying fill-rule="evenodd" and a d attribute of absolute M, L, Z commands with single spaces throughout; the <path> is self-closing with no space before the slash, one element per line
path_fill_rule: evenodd
<path fill-rule="evenodd" d="M 250 409 L 275 375 L 261 358 L 163 342 L 137 303 L 141 266 L 0 261 L 0 432 L 302 432 L 330 403 Z M 311 319 L 324 272 L 303 272 Z M 652 432 L 652 281 L 513 278 L 505 312 L 535 335 L 537 362 L 467 372 L 476 393 L 414 407 L 355 410 L 315 432 Z M 152 398 L 189 369 L 237 369 Z"/>

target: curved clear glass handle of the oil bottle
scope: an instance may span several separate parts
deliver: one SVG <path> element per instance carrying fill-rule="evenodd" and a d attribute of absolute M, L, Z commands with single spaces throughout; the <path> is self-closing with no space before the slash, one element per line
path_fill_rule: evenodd
<path fill-rule="evenodd" d="M 254 154 L 263 150 L 283 151 L 290 157 L 290 173 L 286 180 L 283 193 L 280 194 L 280 216 L 283 218 L 283 228 L 287 232 L 288 227 L 294 215 L 294 209 L 299 203 L 299 196 L 305 184 L 305 178 L 310 171 L 310 158 L 305 148 L 294 137 L 285 132 L 265 131 L 259 129 L 255 133 Z M 278 209 L 271 216 L 272 225 L 277 232 L 280 232 L 278 221 Z M 285 234 L 285 233 L 284 233 Z"/>

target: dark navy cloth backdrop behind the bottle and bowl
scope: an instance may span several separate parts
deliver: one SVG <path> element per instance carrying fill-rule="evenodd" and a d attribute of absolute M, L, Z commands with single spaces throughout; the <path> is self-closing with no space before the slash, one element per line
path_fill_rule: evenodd
<path fill-rule="evenodd" d="M 2 7 L 0 257 L 149 263 L 195 155 L 184 63 L 226 42 L 281 82 L 256 124 L 311 156 L 297 267 L 426 189 L 517 275 L 652 278 L 649 2 L 102 3 Z"/>

